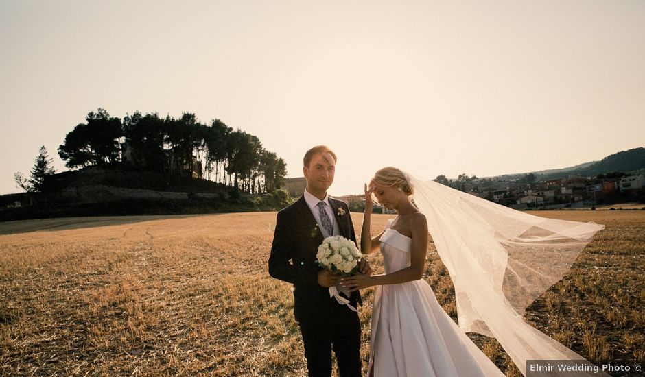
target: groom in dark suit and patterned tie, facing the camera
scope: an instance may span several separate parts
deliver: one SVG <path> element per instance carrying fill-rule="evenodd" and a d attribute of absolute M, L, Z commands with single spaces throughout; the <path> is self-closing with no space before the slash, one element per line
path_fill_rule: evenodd
<path fill-rule="evenodd" d="M 307 187 L 297 202 L 278 212 L 269 273 L 294 285 L 294 316 L 303 335 L 309 376 L 331 376 L 331 350 L 341 377 L 361 376 L 358 313 L 329 297 L 329 287 L 340 276 L 318 267 L 316 261 L 318 245 L 327 236 L 356 242 L 347 204 L 327 195 L 336 154 L 319 145 L 307 151 L 303 162 Z M 370 271 L 364 261 L 360 270 Z M 362 304 L 358 292 L 349 300 L 354 308 Z"/>

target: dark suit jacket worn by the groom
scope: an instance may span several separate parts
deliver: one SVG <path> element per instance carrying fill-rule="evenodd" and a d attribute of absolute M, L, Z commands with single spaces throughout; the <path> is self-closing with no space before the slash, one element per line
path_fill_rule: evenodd
<path fill-rule="evenodd" d="M 338 223 L 340 235 L 356 243 L 347 204 L 332 197 L 329 197 L 329 204 Z M 338 215 L 339 208 L 344 210 L 343 215 Z M 333 309 L 331 305 L 340 305 L 329 297 L 329 288 L 318 284 L 318 271 L 322 268 L 318 267 L 316 252 L 322 240 L 322 233 L 304 196 L 278 212 L 269 257 L 269 273 L 274 278 L 294 284 L 296 321 L 325 315 L 328 310 Z M 356 306 L 357 302 L 362 304 L 358 292 L 349 298 L 353 306 Z"/>

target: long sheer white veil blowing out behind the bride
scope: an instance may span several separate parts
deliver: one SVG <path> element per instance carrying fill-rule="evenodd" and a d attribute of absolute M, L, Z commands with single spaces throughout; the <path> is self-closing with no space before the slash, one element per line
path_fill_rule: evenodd
<path fill-rule="evenodd" d="M 460 328 L 495 337 L 525 376 L 528 360 L 585 360 L 521 315 L 605 226 L 529 215 L 405 174 L 454 283 Z"/>

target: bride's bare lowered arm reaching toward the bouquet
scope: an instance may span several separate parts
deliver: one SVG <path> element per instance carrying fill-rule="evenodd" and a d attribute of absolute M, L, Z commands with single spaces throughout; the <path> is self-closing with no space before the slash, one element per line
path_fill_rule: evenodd
<path fill-rule="evenodd" d="M 427 221 L 419 213 L 412 226 L 412 245 L 410 245 L 410 267 L 386 275 L 354 275 L 342 279 L 341 285 L 349 288 L 350 292 L 364 289 L 373 285 L 401 284 L 419 280 L 425 269 L 427 254 Z"/>

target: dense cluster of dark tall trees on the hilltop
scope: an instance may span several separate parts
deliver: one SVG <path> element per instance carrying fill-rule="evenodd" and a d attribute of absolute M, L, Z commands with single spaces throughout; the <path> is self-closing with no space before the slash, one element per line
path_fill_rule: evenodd
<path fill-rule="evenodd" d="M 121 120 L 99 108 L 85 120 L 58 147 L 69 168 L 124 162 L 169 177 L 205 172 L 208 180 L 255 194 L 279 189 L 286 176 L 285 161 L 257 136 L 219 119 L 203 124 L 189 112 L 161 118 L 137 111 Z"/>

